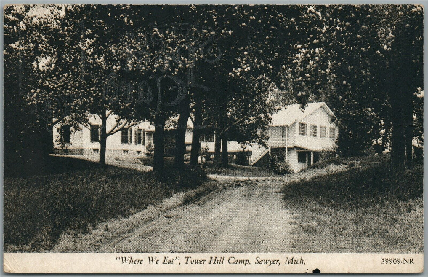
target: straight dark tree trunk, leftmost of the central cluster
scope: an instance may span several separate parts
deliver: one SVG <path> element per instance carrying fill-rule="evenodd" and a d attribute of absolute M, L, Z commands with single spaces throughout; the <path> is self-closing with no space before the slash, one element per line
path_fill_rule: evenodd
<path fill-rule="evenodd" d="M 153 144 L 155 150 L 153 151 L 153 171 L 161 174 L 163 172 L 163 156 L 165 151 L 165 117 L 158 114 L 154 120 L 155 133 L 153 134 Z"/>

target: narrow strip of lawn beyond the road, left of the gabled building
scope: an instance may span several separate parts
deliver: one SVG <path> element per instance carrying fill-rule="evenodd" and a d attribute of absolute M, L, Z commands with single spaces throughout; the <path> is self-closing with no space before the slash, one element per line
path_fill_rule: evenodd
<path fill-rule="evenodd" d="M 244 177 L 271 177 L 271 176 L 282 176 L 276 175 L 264 167 L 257 166 L 238 166 L 233 163 L 229 163 L 228 168 L 214 168 L 212 162 L 208 162 L 208 167 L 205 168 L 207 174 L 218 174 L 226 176 L 244 176 Z"/>

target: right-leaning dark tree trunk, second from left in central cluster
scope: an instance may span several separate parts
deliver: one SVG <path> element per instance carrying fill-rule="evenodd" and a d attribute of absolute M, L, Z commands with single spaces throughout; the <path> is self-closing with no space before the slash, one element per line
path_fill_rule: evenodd
<path fill-rule="evenodd" d="M 175 133 L 174 164 L 177 170 L 182 170 L 184 168 L 184 154 L 186 154 L 187 120 L 190 115 L 190 103 L 188 101 L 188 97 L 186 100 L 181 103 L 183 106 L 180 112 L 180 117 L 178 117 L 177 130 Z"/>

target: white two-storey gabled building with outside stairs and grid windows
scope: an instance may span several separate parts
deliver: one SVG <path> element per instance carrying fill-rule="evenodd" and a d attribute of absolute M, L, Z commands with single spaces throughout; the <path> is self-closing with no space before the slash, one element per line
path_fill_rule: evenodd
<path fill-rule="evenodd" d="M 332 121 L 333 112 L 325 102 L 289 105 L 272 115 L 268 148 L 255 148 L 252 165 L 261 163 L 275 148 L 285 151 L 285 160 L 294 172 L 307 168 L 318 160 L 318 152 L 335 147 L 338 128 Z"/>

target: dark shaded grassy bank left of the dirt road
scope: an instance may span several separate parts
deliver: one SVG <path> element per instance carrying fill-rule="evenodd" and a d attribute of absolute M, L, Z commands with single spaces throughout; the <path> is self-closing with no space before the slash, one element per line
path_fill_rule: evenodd
<path fill-rule="evenodd" d="M 72 170 L 53 175 L 5 178 L 4 242 L 51 249 L 59 235 L 87 232 L 113 217 L 128 217 L 172 194 L 205 181 L 201 170 L 177 175 L 109 167 Z"/>

